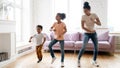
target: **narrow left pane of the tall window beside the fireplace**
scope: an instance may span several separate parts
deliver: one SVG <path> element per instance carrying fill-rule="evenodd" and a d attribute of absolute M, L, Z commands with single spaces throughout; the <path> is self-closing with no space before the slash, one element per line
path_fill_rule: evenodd
<path fill-rule="evenodd" d="M 20 42 L 22 37 L 22 0 L 15 0 L 15 20 L 16 20 L 16 41 Z"/>

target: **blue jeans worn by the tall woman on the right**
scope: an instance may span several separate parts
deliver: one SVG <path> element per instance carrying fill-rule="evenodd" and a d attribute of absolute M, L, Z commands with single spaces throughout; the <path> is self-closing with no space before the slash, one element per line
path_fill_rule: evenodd
<path fill-rule="evenodd" d="M 97 39 L 97 33 L 96 32 L 95 33 L 84 33 L 83 45 L 82 45 L 81 50 L 79 51 L 78 60 L 80 60 L 82 54 L 84 53 L 86 45 L 88 44 L 89 39 L 91 39 L 93 44 L 94 44 L 93 60 L 96 61 L 97 55 L 98 55 L 98 39 Z"/>

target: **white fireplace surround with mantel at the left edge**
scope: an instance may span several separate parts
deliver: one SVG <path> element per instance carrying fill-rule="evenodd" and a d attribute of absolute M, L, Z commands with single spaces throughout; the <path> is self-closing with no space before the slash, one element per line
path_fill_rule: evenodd
<path fill-rule="evenodd" d="M 0 52 L 15 55 L 15 21 L 0 21 Z"/>

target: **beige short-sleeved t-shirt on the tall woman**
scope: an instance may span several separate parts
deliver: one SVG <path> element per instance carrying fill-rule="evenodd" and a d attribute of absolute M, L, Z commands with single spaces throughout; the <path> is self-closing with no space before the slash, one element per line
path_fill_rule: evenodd
<path fill-rule="evenodd" d="M 85 27 L 91 31 L 95 30 L 94 29 L 94 25 L 95 25 L 95 22 L 93 22 L 92 20 L 95 20 L 96 18 L 98 18 L 98 16 L 94 13 L 91 13 L 90 16 L 87 16 L 87 15 L 83 15 L 82 16 L 82 21 L 85 21 Z M 91 20 L 92 19 L 92 20 Z M 87 31 L 85 31 L 86 33 L 89 33 Z"/>

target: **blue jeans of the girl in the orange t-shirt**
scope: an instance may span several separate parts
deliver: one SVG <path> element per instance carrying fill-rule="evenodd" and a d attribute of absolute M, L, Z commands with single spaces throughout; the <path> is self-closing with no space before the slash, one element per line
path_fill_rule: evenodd
<path fill-rule="evenodd" d="M 60 48 L 61 48 L 61 53 L 62 53 L 62 54 L 61 54 L 61 62 L 64 62 L 64 40 L 56 40 L 56 39 L 54 39 L 53 41 L 51 41 L 50 44 L 49 44 L 50 54 L 51 54 L 52 58 L 55 57 L 54 51 L 53 51 L 53 49 L 52 49 L 52 46 L 53 46 L 54 44 L 56 44 L 57 42 L 60 43 Z"/>

